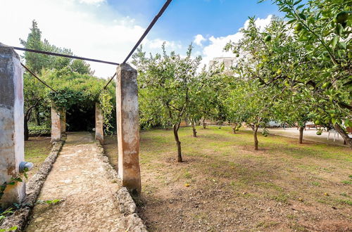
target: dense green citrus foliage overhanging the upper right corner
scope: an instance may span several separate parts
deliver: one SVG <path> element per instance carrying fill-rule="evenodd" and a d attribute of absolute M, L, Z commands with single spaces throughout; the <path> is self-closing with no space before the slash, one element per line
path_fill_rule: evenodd
<path fill-rule="evenodd" d="M 294 34 L 288 36 L 287 41 L 267 44 L 266 49 L 260 48 L 258 44 L 240 42 L 241 46 L 253 46 L 253 56 L 263 58 L 263 61 L 258 62 L 261 68 L 259 74 L 272 75 L 279 63 L 284 64 L 282 67 L 288 67 L 282 70 L 279 78 L 267 75 L 260 79 L 277 88 L 287 86 L 294 91 L 287 98 L 294 104 L 292 116 L 301 111 L 301 107 L 296 105 L 296 101 L 301 101 L 310 105 L 306 110 L 310 112 L 309 117 L 320 119 L 326 127 L 332 127 L 336 123 L 344 123 L 346 126 L 351 122 L 348 105 L 351 102 L 352 89 L 351 84 L 346 84 L 351 79 L 349 72 L 352 65 L 351 4 L 340 0 L 311 0 L 306 5 L 291 0 L 273 2 L 285 13 L 288 24 L 286 27 L 291 25 Z M 272 22 L 266 30 L 270 30 L 272 38 L 277 39 L 277 35 L 282 32 L 274 25 Z M 253 32 L 254 30 L 251 37 Z M 249 37 L 249 34 L 245 33 L 245 37 Z M 270 54 L 270 50 L 273 53 Z M 262 72 L 263 68 L 269 70 Z M 302 113 L 304 115 L 304 110 Z M 294 118 L 298 120 L 298 117 L 292 117 Z"/>

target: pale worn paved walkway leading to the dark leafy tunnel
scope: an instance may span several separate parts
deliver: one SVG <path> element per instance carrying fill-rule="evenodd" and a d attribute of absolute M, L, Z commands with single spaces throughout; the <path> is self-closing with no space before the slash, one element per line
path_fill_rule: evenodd
<path fill-rule="evenodd" d="M 68 134 L 47 177 L 27 231 L 126 231 L 115 202 L 118 183 L 108 179 L 91 134 Z"/>

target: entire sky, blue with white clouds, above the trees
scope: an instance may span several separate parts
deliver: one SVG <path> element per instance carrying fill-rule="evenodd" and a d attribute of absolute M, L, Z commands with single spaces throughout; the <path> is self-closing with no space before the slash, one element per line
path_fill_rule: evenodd
<path fill-rule="evenodd" d="M 249 16 L 265 27 L 272 15 L 280 15 L 270 0 L 173 0 L 143 41 L 144 51 L 168 51 L 185 55 L 189 44 L 203 65 L 222 51 L 228 41 L 241 39 L 239 30 Z M 165 0 L 0 0 L 0 42 L 21 46 L 32 20 L 42 39 L 71 49 L 75 56 L 122 63 Z M 131 60 L 130 60 L 131 61 Z M 113 75 L 113 65 L 89 62 L 97 77 Z"/>

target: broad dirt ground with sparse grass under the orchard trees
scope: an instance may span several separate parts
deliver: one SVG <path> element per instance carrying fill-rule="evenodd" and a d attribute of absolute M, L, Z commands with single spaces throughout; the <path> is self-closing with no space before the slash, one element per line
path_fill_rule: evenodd
<path fill-rule="evenodd" d="M 230 127 L 142 131 L 139 216 L 150 231 L 352 231 L 352 150 Z M 117 163 L 116 138 L 106 153 Z"/>

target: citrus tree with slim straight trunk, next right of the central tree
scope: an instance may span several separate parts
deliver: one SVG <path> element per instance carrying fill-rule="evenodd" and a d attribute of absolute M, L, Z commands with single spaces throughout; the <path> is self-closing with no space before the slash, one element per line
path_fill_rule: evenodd
<path fill-rule="evenodd" d="M 280 34 L 273 37 L 272 31 L 280 31 Z M 270 58 L 276 52 L 272 44 L 287 39 L 284 31 L 284 22 L 278 18 L 274 18 L 264 29 L 256 26 L 255 18 L 249 18 L 248 27 L 241 29 L 243 38 L 225 47 L 239 56 L 237 65 L 233 67 L 234 79 L 238 84 L 232 90 L 233 102 L 227 109 L 227 116 L 234 123 L 246 120 L 251 126 L 255 150 L 258 150 L 258 128 L 265 127 L 265 123 L 274 117 L 275 108 L 280 108 L 279 99 L 289 88 L 272 81 L 282 72 Z"/>

